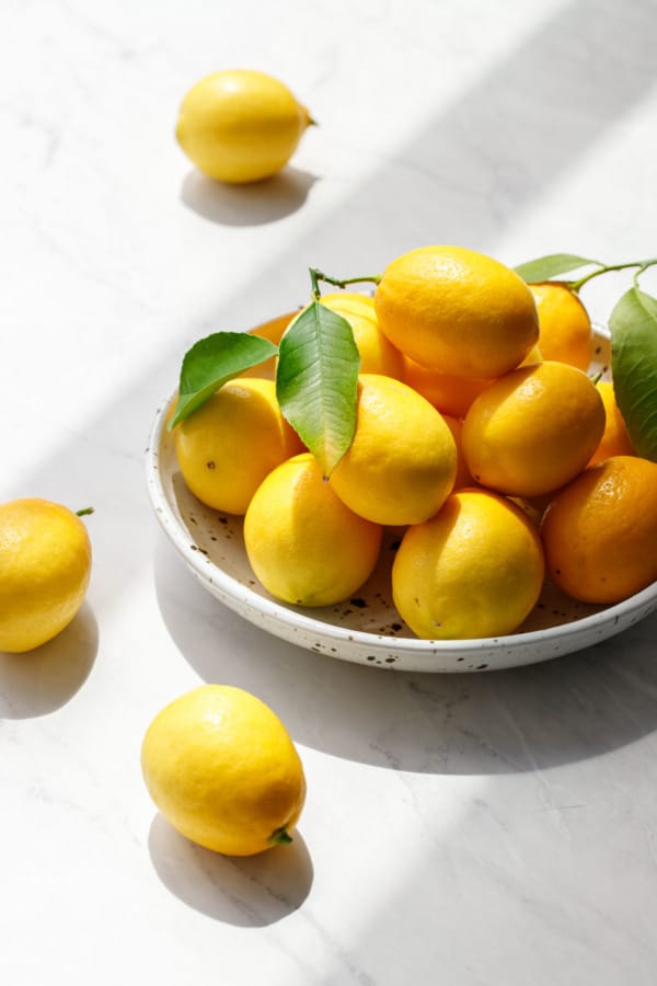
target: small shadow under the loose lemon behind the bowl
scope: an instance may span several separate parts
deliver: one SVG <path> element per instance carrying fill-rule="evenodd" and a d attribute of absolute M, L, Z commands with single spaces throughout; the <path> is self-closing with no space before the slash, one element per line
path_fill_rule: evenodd
<path fill-rule="evenodd" d="M 181 199 L 220 226 L 263 226 L 300 209 L 315 181 L 312 174 L 290 165 L 249 185 L 224 185 L 193 170 L 183 181 Z"/>

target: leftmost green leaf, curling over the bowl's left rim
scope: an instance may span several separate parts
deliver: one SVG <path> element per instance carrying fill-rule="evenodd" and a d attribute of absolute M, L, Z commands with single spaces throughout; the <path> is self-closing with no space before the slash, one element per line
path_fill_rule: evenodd
<path fill-rule="evenodd" d="M 274 343 L 247 332 L 214 332 L 185 353 L 181 367 L 174 428 L 211 398 L 220 387 L 278 352 Z"/>

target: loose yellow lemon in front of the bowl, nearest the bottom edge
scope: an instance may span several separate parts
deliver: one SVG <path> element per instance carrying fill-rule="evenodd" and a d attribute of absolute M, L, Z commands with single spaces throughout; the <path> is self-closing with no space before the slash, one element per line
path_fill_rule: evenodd
<path fill-rule="evenodd" d="M 291 841 L 303 767 L 280 719 L 241 688 L 201 685 L 162 709 L 141 768 L 164 817 L 206 849 L 254 856 Z"/>

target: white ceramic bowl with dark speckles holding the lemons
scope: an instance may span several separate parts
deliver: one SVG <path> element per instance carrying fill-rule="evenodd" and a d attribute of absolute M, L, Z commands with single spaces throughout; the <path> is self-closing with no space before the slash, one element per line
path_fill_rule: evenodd
<path fill-rule="evenodd" d="M 608 375 L 609 336 L 596 329 L 591 371 Z M 374 667 L 412 672 L 475 672 L 517 667 L 568 654 L 620 633 L 657 609 L 657 583 L 613 606 L 577 603 L 545 585 L 534 611 L 508 637 L 418 640 L 396 612 L 390 591 L 394 542 L 389 539 L 373 575 L 337 606 L 301 609 L 278 603 L 256 582 L 246 560 L 242 518 L 205 507 L 180 473 L 166 431 L 173 398 L 158 410 L 146 454 L 155 516 L 209 593 L 244 619 L 299 646 Z"/>

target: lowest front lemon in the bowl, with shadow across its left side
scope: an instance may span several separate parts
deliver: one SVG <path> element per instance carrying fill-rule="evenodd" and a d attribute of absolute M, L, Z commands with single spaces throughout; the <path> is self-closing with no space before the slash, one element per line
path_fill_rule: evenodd
<path fill-rule="evenodd" d="M 535 606 L 544 561 L 534 525 L 506 497 L 461 490 L 410 527 L 392 567 L 395 606 L 417 637 L 511 633 Z"/>

